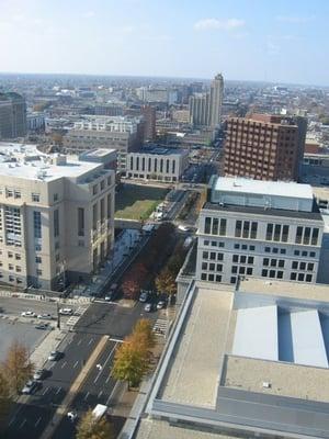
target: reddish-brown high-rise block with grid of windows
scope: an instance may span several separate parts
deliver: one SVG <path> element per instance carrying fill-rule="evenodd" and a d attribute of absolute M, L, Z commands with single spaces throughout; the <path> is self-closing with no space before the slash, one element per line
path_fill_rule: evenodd
<path fill-rule="evenodd" d="M 256 180 L 295 180 L 300 173 L 307 121 L 299 116 L 252 114 L 229 117 L 225 175 Z"/>

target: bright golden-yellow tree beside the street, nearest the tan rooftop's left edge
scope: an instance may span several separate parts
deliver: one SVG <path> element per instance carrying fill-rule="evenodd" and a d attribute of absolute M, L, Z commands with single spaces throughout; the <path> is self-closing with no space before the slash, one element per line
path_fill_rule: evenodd
<path fill-rule="evenodd" d="M 137 387 L 148 371 L 148 353 L 144 344 L 128 338 L 116 350 L 111 375 L 127 381 L 128 387 Z"/>

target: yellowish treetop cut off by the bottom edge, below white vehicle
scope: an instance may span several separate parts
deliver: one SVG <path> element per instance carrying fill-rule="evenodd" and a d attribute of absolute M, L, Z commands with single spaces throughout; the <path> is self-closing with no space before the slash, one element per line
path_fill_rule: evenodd
<path fill-rule="evenodd" d="M 95 419 L 89 409 L 77 425 L 76 439 L 114 439 L 114 430 L 105 417 Z"/>

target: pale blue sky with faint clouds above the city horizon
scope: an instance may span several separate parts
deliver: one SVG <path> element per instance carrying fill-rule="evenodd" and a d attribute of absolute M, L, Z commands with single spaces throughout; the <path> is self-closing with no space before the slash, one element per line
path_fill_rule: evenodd
<path fill-rule="evenodd" d="M 329 86 L 328 0 L 0 0 L 0 71 Z"/>

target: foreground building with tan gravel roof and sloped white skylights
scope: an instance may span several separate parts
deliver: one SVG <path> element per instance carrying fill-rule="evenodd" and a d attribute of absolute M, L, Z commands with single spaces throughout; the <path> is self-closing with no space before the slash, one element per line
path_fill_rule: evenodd
<path fill-rule="evenodd" d="M 328 316 L 324 285 L 192 282 L 132 437 L 328 439 Z"/>

